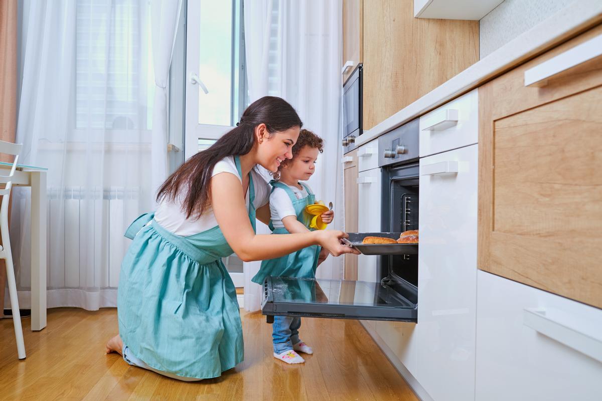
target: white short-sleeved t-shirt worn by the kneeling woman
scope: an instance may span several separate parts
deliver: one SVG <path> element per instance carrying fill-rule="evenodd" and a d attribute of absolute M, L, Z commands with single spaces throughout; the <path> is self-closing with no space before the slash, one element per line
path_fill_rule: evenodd
<path fill-rule="evenodd" d="M 243 180 L 238 174 L 236 164 L 234 162 L 234 156 L 228 156 L 223 158 L 216 163 L 213 168 L 211 177 L 216 176 L 220 173 L 231 173 L 238 177 L 240 182 Z M 264 178 L 255 169 L 251 171 L 251 177 L 253 178 L 253 186 L 255 187 L 255 209 L 264 206 L 268 203 L 270 197 L 270 190 L 272 189 Z M 250 185 L 249 185 L 250 190 Z M 249 207 L 249 190 L 245 196 L 246 205 Z M 216 215 L 213 214 L 213 208 L 209 206 L 205 213 L 200 216 L 199 219 L 186 218 L 186 213 L 182 210 L 182 201 L 184 197 L 179 197 L 178 201 L 162 201 L 157 212 L 155 212 L 155 221 L 158 222 L 161 227 L 165 228 L 170 233 L 179 236 L 189 236 L 193 234 L 202 233 L 203 231 L 209 230 L 217 225 Z"/>

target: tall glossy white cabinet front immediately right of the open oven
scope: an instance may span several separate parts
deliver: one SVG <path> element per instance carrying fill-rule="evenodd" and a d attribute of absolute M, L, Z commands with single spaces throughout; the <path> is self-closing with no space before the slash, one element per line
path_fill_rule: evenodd
<path fill-rule="evenodd" d="M 434 400 L 474 399 L 477 146 L 420 159 L 417 379 Z"/>

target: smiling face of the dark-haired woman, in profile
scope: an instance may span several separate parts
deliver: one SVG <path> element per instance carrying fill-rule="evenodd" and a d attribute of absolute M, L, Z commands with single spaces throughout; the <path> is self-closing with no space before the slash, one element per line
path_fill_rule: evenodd
<path fill-rule="evenodd" d="M 264 124 L 257 127 L 258 164 L 275 173 L 284 159 L 293 158 L 293 145 L 299 138 L 300 127 L 292 127 L 285 131 L 270 135 Z"/>

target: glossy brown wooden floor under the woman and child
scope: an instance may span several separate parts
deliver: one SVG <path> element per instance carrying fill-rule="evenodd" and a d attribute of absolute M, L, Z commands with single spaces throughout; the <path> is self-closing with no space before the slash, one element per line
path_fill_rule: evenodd
<path fill-rule="evenodd" d="M 0 400 L 417 400 L 355 320 L 303 319 L 314 347 L 305 364 L 272 357 L 272 325 L 243 312 L 244 362 L 222 377 L 185 383 L 105 355 L 117 332 L 115 309 L 49 310 L 48 326 L 29 329 L 27 358 L 17 359 L 13 321 L 0 320 Z"/>

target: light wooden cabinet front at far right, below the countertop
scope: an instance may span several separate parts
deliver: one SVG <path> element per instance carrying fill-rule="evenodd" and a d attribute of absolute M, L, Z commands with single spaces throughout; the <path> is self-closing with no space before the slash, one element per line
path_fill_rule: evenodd
<path fill-rule="evenodd" d="M 479 89 L 479 268 L 602 308 L 602 58 L 545 87 L 524 71 Z"/>

